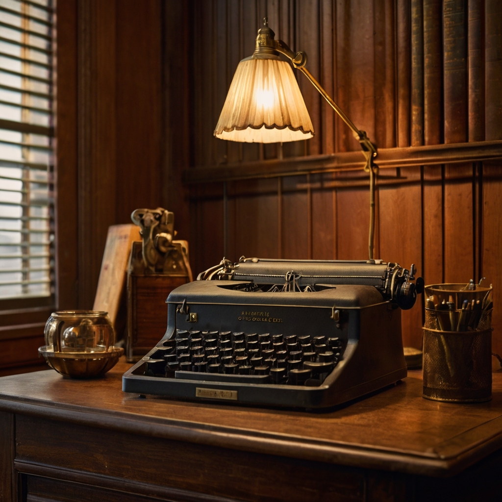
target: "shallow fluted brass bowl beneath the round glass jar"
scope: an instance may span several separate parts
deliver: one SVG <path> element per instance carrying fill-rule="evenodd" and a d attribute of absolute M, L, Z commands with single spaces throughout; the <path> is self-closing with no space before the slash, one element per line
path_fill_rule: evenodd
<path fill-rule="evenodd" d="M 110 347 L 108 352 L 54 352 L 52 345 L 39 347 L 39 354 L 58 373 L 71 378 L 94 378 L 109 371 L 124 353 L 123 348 Z"/>

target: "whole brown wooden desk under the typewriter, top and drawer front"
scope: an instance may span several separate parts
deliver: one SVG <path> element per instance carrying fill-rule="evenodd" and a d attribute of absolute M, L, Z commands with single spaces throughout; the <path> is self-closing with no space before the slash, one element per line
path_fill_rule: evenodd
<path fill-rule="evenodd" d="M 310 414 L 124 394 L 128 367 L 0 378 L 3 502 L 500 499 L 502 373 L 489 403 L 427 401 L 410 372 Z"/>

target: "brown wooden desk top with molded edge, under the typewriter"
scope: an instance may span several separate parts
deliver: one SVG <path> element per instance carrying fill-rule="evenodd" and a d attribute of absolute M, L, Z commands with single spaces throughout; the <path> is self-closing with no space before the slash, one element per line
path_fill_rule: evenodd
<path fill-rule="evenodd" d="M 0 378 L 0 410 L 359 467 L 447 476 L 502 447 L 502 372 L 493 399 L 452 404 L 422 398 L 422 374 L 324 412 L 173 401 L 121 391 L 120 362 L 103 378 L 55 371 Z"/>

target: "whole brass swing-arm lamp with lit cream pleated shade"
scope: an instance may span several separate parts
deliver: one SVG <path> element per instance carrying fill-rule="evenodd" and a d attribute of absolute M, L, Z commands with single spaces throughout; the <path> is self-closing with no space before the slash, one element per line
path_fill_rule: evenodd
<path fill-rule="evenodd" d="M 314 87 L 338 113 L 360 143 L 369 172 L 369 259 L 373 258 L 374 180 L 378 166 L 373 163 L 376 146 L 364 131 L 357 129 L 321 84 L 305 68 L 307 55 L 294 53 L 275 33 L 264 18 L 258 30 L 253 56 L 237 66 L 225 104 L 216 124 L 214 136 L 222 140 L 246 143 L 279 143 L 308 140 L 314 128 L 291 65 L 306 75 Z"/>

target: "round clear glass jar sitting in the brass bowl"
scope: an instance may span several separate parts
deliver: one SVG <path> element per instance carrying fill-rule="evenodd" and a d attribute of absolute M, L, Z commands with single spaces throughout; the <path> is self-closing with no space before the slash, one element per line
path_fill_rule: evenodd
<path fill-rule="evenodd" d="M 44 330 L 46 345 L 55 353 L 99 353 L 113 350 L 115 332 L 107 312 L 64 310 L 53 312 Z"/>

